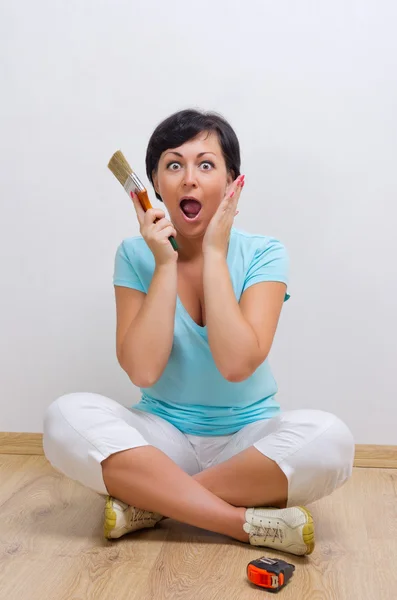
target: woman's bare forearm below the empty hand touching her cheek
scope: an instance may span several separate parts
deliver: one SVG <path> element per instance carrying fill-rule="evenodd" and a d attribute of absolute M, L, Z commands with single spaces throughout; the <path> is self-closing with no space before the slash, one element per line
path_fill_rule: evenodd
<path fill-rule="evenodd" d="M 205 256 L 203 282 L 208 342 L 215 364 L 225 379 L 242 381 L 251 374 L 258 340 L 241 313 L 226 258 L 216 253 Z"/>

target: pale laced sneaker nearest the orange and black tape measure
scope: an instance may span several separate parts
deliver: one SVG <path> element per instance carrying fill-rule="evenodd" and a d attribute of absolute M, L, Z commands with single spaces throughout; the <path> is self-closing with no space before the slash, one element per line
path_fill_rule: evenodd
<path fill-rule="evenodd" d="M 248 508 L 243 529 L 253 546 L 266 546 L 291 554 L 314 550 L 314 523 L 302 506 L 292 508 Z"/>

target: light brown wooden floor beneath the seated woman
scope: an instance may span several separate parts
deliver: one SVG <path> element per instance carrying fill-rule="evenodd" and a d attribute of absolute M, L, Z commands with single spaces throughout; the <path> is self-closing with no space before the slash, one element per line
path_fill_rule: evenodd
<path fill-rule="evenodd" d="M 355 469 L 312 505 L 307 558 L 171 520 L 109 542 L 103 506 L 42 456 L 0 455 L 0 598 L 259 600 L 270 594 L 247 581 L 246 565 L 263 555 L 296 566 L 284 600 L 397 598 L 397 470 Z"/>

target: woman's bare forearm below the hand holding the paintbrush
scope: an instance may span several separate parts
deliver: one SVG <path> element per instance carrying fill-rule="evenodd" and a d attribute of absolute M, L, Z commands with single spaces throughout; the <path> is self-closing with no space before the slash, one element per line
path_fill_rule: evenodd
<path fill-rule="evenodd" d="M 122 367 L 138 387 L 154 385 L 167 365 L 174 338 L 176 297 L 176 263 L 156 266 L 121 349 Z"/>

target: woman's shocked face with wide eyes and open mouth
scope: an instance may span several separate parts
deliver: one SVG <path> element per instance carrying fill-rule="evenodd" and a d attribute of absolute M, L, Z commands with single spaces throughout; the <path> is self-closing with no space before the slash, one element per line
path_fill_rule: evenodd
<path fill-rule="evenodd" d="M 232 181 L 218 136 L 208 131 L 165 150 L 153 176 L 172 224 L 185 237 L 204 235 Z"/>

